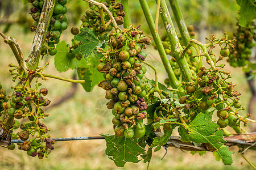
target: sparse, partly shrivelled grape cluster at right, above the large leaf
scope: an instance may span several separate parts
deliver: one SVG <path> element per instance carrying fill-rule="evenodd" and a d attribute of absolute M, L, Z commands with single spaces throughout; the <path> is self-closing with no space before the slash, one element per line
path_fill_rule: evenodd
<path fill-rule="evenodd" d="M 209 40 L 209 39 L 208 39 Z M 241 107 L 240 92 L 234 90 L 236 84 L 228 82 L 228 79 L 232 75 L 224 70 L 225 64 L 216 65 L 218 61 L 221 61 L 225 57 L 229 56 L 229 48 L 234 48 L 233 42 L 235 40 L 228 40 L 228 35 L 225 34 L 225 38 L 217 39 L 212 35 L 212 45 L 209 46 L 209 50 L 206 52 L 210 67 L 200 67 L 196 78 L 192 78 L 192 82 L 183 82 L 184 96 L 179 98 L 179 104 L 175 104 L 175 100 L 170 100 L 168 103 L 163 103 L 155 109 L 154 116 L 150 115 L 150 118 L 154 122 L 160 120 L 167 120 L 169 118 L 179 118 L 179 114 L 183 112 L 185 116 L 181 118 L 187 123 L 191 123 L 197 114 L 216 112 L 218 120 L 217 124 L 220 128 L 230 126 L 234 129 L 240 126 L 240 122 L 246 126 L 247 121 L 245 118 L 238 116 L 238 111 L 244 110 Z M 216 56 L 212 50 L 216 45 L 221 46 L 220 57 L 218 59 L 212 59 Z M 223 48 L 222 46 L 225 45 Z M 168 79 L 167 79 L 168 80 Z M 166 83 L 168 84 L 169 82 Z M 154 100 L 154 99 L 152 99 Z M 151 101 L 153 103 L 154 101 Z M 174 126 L 170 124 L 164 124 L 164 129 L 171 130 Z"/>

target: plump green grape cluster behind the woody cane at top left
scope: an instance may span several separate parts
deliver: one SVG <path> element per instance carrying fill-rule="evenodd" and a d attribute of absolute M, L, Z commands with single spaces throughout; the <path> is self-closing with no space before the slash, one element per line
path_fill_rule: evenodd
<path fill-rule="evenodd" d="M 32 3 L 33 7 L 30 8 L 30 14 L 35 20 L 35 22 L 31 25 L 31 31 L 36 31 L 44 1 L 28 0 L 28 2 Z M 51 56 L 55 56 L 55 54 L 57 53 L 57 50 L 55 49 L 55 44 L 59 43 L 61 32 L 68 28 L 67 16 L 65 15 L 65 13 L 67 12 L 67 7 L 65 6 L 66 3 L 67 0 L 59 0 L 55 4 L 51 23 L 49 25 L 46 35 L 47 45 L 42 48 L 42 55 L 49 54 Z"/>

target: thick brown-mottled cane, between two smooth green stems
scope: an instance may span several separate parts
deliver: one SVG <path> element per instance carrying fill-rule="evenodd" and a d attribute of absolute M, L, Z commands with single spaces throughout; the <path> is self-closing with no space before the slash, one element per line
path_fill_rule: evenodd
<path fill-rule="evenodd" d="M 157 0 L 156 0 L 157 2 Z M 167 36 L 171 43 L 171 54 L 175 57 L 177 64 L 180 67 L 183 78 L 186 82 L 192 82 L 192 74 L 189 69 L 188 62 L 185 57 L 180 58 L 179 53 L 183 50 L 180 45 L 179 38 L 177 37 L 177 33 L 175 32 L 174 24 L 172 23 L 171 15 L 168 11 L 166 1 L 161 0 L 160 2 L 160 14 L 162 16 L 162 20 L 164 23 L 164 27 L 166 28 Z"/>

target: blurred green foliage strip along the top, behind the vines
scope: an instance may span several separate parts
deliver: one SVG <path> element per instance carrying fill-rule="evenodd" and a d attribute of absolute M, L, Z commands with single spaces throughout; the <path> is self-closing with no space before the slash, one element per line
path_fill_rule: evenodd
<path fill-rule="evenodd" d="M 7 32 L 11 25 L 18 24 L 24 27 L 24 33 L 28 33 L 33 20 L 30 15 L 28 15 L 30 4 L 27 0 L 1 0 L 0 2 L 0 25 L 4 25 L 5 28 L 3 32 Z M 216 31 L 226 31 L 231 33 L 236 30 L 237 11 L 240 9 L 236 0 L 183 0 L 178 2 L 181 11 L 183 11 L 183 17 L 186 24 L 193 25 L 196 31 L 201 32 L 201 30 L 207 29 L 208 33 Z M 129 5 L 132 23 L 134 25 L 141 24 L 141 28 L 145 33 L 149 33 L 150 31 L 147 28 L 139 2 L 130 0 Z M 150 6 L 152 16 L 155 16 L 155 0 L 148 0 L 148 5 Z M 66 6 L 68 7 L 68 24 L 80 24 L 80 16 L 84 14 L 85 9 L 88 7 L 88 3 L 84 1 L 70 0 Z M 169 9 L 171 12 L 170 6 Z M 163 24 L 160 22 L 159 28 L 159 32 L 162 33 L 164 28 Z"/>

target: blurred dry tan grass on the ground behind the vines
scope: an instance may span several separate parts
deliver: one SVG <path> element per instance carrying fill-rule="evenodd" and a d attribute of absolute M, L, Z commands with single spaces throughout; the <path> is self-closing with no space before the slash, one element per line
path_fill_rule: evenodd
<path fill-rule="evenodd" d="M 27 56 L 32 42 L 32 34 L 23 35 L 20 28 L 14 27 L 9 35 L 15 37 L 22 46 L 24 56 Z M 67 39 L 68 36 L 65 35 L 63 37 Z M 151 56 L 152 61 L 155 61 L 155 66 L 159 68 L 160 81 L 163 82 L 166 74 L 163 69 L 160 69 L 162 65 L 158 61 L 159 57 L 152 50 L 151 53 L 149 56 Z M 11 79 L 7 65 L 10 62 L 16 62 L 10 53 L 9 46 L 4 44 L 2 40 L 0 41 L 0 54 L 0 80 L 3 87 L 10 93 Z M 47 66 L 45 73 L 71 78 L 73 71 L 58 73 L 53 64 L 53 58 L 46 58 L 47 60 L 51 59 L 51 62 Z M 246 105 L 250 92 L 245 78 L 241 70 L 233 70 L 231 67 L 228 67 L 228 69 L 232 71 L 234 75 L 232 81 L 238 84 L 237 89 L 242 92 L 241 98 L 243 104 Z M 148 70 L 148 76 L 153 78 L 154 74 Z M 15 83 L 11 83 L 11 85 L 15 85 Z M 69 90 L 70 86 L 71 84 L 59 80 L 51 79 L 49 82 L 43 82 L 43 87 L 47 87 L 49 90 L 47 97 L 52 103 L 65 94 L 65 91 Z M 56 108 L 49 109 L 47 112 L 50 116 L 44 122 L 46 122 L 48 128 L 51 128 L 50 134 L 52 138 L 95 136 L 100 133 L 112 134 L 112 116 L 109 113 L 99 115 L 95 109 L 97 101 L 104 99 L 104 94 L 104 90 L 98 87 L 95 87 L 93 92 L 88 93 L 79 86 L 72 100 Z M 99 106 L 97 105 L 97 107 Z M 106 108 L 102 107 L 102 111 L 105 110 Z M 245 112 L 243 115 L 245 115 Z M 37 157 L 31 158 L 27 156 L 26 152 L 18 149 L 9 151 L 5 148 L 0 148 L 0 169 L 120 169 L 115 166 L 112 160 L 107 158 L 105 147 L 104 140 L 58 142 L 49 158 L 43 160 L 38 160 Z M 150 169 L 250 169 L 250 166 L 237 153 L 237 147 L 233 147 L 232 150 L 236 151 L 233 156 L 234 163 L 230 166 L 225 166 L 221 162 L 216 162 L 210 152 L 201 157 L 198 154 L 191 155 L 187 151 L 181 151 L 176 148 L 168 148 L 166 158 L 160 160 L 165 152 L 162 149 L 153 155 Z M 254 164 L 256 163 L 254 151 L 247 151 L 245 156 Z M 123 169 L 146 169 L 146 167 L 147 165 L 142 162 L 138 164 L 127 163 Z"/>

